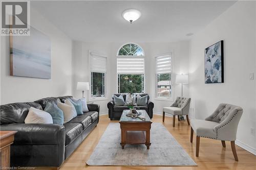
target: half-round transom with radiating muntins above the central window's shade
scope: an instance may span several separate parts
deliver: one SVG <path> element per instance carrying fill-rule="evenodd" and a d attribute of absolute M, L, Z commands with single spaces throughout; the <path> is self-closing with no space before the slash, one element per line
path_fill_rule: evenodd
<path fill-rule="evenodd" d="M 125 44 L 120 48 L 118 56 L 144 56 L 144 52 L 136 44 Z"/>

